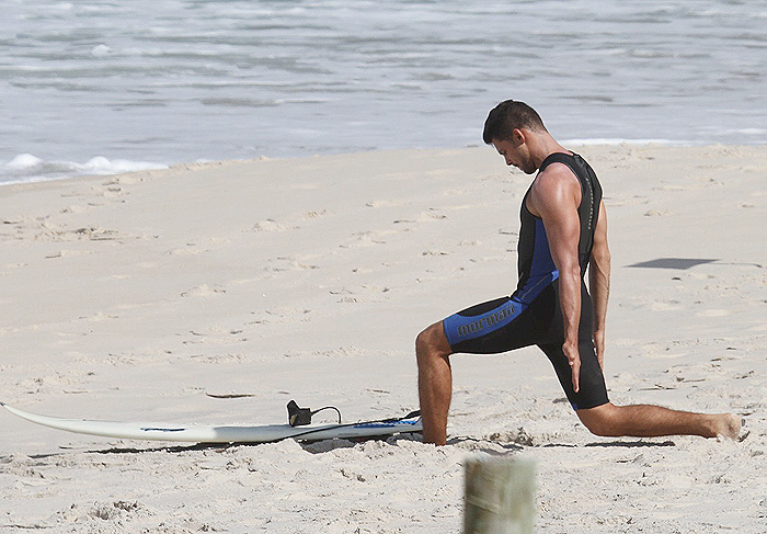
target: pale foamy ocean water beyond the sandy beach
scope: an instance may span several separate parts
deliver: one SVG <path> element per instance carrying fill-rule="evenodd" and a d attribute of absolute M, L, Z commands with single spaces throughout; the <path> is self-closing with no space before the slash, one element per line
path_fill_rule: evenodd
<path fill-rule="evenodd" d="M 767 0 L 0 0 L 0 182 L 481 144 L 767 143 Z"/>

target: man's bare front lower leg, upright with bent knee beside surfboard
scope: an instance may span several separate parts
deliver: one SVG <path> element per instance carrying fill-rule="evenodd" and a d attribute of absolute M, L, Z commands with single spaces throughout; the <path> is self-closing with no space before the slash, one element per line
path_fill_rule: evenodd
<path fill-rule="evenodd" d="M 447 412 L 453 396 L 450 354 L 442 321 L 428 327 L 415 340 L 424 443 L 444 445 L 447 440 Z"/>

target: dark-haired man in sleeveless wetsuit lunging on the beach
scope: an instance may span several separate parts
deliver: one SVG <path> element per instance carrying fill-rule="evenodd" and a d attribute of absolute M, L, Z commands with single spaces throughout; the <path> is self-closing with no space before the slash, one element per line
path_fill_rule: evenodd
<path fill-rule="evenodd" d="M 609 402 L 603 377 L 605 316 L 610 279 L 602 186 L 579 155 L 547 132 L 538 113 L 506 101 L 490 112 L 484 141 L 506 164 L 538 172 L 522 202 L 516 291 L 472 306 L 416 339 L 424 442 L 445 444 L 453 391 L 449 356 L 490 354 L 538 345 L 554 366 L 575 413 L 604 436 L 724 435 L 740 418 L 657 406 Z M 588 286 L 584 275 L 588 266 Z"/>

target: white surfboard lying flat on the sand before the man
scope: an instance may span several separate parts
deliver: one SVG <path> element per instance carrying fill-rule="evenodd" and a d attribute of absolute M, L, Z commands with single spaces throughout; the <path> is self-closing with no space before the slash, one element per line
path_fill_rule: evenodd
<path fill-rule="evenodd" d="M 31 413 L 0 402 L 11 413 L 33 423 L 78 434 L 101 435 L 124 440 L 172 441 L 185 443 L 268 443 L 286 439 L 316 441 L 362 439 L 421 432 L 421 418 L 415 416 L 386 421 L 368 421 L 346 424 L 289 424 L 267 425 L 204 425 L 149 422 L 92 421 L 88 419 L 61 419 Z"/>

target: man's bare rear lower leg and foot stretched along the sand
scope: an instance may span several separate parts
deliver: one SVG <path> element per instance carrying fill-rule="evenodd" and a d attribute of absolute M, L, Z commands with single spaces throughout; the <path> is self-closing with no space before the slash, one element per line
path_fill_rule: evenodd
<path fill-rule="evenodd" d="M 608 402 L 577 410 L 577 417 L 589 431 L 604 436 L 723 435 L 734 440 L 741 432 L 741 419 L 733 413 L 694 413 L 651 405 Z"/>

